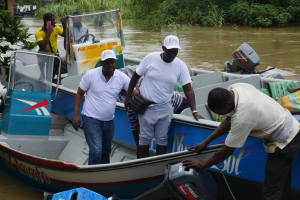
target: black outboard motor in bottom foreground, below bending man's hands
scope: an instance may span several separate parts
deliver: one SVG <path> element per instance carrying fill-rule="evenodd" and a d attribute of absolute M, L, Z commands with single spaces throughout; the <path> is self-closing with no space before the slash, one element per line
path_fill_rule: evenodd
<path fill-rule="evenodd" d="M 217 185 L 205 169 L 186 170 L 182 163 L 168 165 L 163 182 L 134 200 L 214 200 Z"/>

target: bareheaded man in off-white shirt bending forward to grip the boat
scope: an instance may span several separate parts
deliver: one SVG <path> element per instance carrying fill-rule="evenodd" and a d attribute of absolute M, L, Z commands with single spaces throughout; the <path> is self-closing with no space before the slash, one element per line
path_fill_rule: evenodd
<path fill-rule="evenodd" d="M 227 117 L 207 139 L 189 150 L 199 153 L 229 131 L 225 146 L 205 162 L 189 158 L 183 166 L 205 169 L 228 158 L 249 135 L 263 138 L 268 157 L 262 199 L 290 199 L 292 163 L 300 149 L 299 122 L 272 98 L 246 83 L 233 84 L 228 90 L 213 89 L 207 103 L 210 110 Z"/>

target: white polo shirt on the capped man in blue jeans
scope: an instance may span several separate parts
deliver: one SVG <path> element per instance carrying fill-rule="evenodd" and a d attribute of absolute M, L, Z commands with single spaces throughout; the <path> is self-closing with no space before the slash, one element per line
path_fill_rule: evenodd
<path fill-rule="evenodd" d="M 129 77 L 118 70 L 108 82 L 102 74 L 102 67 L 88 70 L 79 84 L 86 91 L 81 113 L 101 121 L 112 120 L 117 97 L 122 89 L 128 90 L 129 82 Z"/>

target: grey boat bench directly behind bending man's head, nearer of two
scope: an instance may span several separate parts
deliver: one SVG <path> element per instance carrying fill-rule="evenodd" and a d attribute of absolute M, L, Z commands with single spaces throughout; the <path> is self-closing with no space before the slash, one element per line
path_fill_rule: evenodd
<path fill-rule="evenodd" d="M 214 88 L 225 88 L 227 89 L 230 85 L 235 83 L 249 83 L 256 88 L 262 88 L 261 80 L 259 76 L 251 76 L 246 78 L 241 78 L 238 80 L 227 81 L 223 83 L 218 83 L 214 85 L 209 85 L 206 87 L 198 88 L 194 90 L 196 105 L 201 105 L 207 102 L 208 93 Z"/>

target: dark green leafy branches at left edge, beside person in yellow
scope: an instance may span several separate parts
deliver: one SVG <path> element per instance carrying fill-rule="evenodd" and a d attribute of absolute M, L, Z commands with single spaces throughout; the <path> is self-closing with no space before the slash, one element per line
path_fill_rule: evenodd
<path fill-rule="evenodd" d="M 20 45 L 22 49 L 33 49 L 36 42 L 28 42 L 27 39 L 31 34 L 28 33 L 28 28 L 23 28 L 20 24 L 19 18 L 11 17 L 11 13 L 6 10 L 0 10 L 0 53 L 5 54 L 12 50 L 9 45 L 3 45 L 6 41 L 11 45 Z M 0 59 L 0 65 L 4 67 L 9 66 L 10 57 L 3 57 Z"/>

